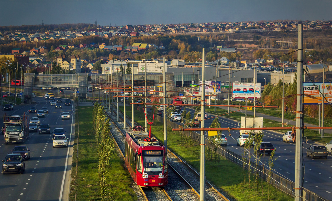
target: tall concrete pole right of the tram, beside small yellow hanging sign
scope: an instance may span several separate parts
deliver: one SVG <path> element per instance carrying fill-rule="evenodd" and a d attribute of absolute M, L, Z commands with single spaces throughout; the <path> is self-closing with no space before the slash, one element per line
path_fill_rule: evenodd
<path fill-rule="evenodd" d="M 202 63 L 202 83 L 205 83 L 205 48 L 203 48 L 203 63 Z M 205 85 L 202 86 L 202 97 L 201 97 L 201 128 L 204 128 L 205 119 Z M 204 131 L 201 131 L 201 178 L 200 178 L 200 201 L 205 200 L 205 138 Z"/>

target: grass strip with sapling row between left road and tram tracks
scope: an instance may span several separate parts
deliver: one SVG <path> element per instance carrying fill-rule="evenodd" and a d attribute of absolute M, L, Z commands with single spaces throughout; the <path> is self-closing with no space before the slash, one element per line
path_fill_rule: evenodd
<path fill-rule="evenodd" d="M 78 107 L 76 110 L 75 141 L 72 161 L 72 181 L 70 189 L 70 200 L 100 200 L 98 159 L 96 153 L 95 136 L 92 132 L 92 107 Z M 78 174 L 76 176 L 76 150 L 79 114 L 79 154 Z M 135 201 L 136 195 L 132 188 L 132 179 L 124 162 L 117 153 L 113 154 L 110 167 L 107 169 L 108 197 L 106 200 L 128 200 Z"/>

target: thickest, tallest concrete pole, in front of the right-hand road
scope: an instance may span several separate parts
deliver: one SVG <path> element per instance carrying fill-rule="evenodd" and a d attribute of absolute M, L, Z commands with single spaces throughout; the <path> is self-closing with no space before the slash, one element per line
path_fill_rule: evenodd
<path fill-rule="evenodd" d="M 303 83 L 303 25 L 298 24 L 297 39 L 297 94 L 302 94 Z M 294 201 L 302 201 L 302 133 L 303 133 L 303 114 L 302 96 L 296 98 L 296 139 L 295 139 L 295 188 Z"/>

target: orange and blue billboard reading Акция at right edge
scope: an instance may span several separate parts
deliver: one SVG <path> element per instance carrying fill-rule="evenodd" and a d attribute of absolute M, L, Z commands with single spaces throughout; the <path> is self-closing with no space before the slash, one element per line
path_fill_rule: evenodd
<path fill-rule="evenodd" d="M 331 83 L 324 83 L 324 96 L 328 102 L 332 102 L 332 84 Z M 317 105 L 322 104 L 322 93 L 323 93 L 323 83 L 322 82 L 315 82 L 312 84 L 311 82 L 304 82 L 303 83 L 303 94 L 308 94 L 317 99 L 311 99 L 309 97 L 303 96 L 303 104 L 306 105 Z M 328 104 L 326 100 L 324 100 L 324 104 Z"/>

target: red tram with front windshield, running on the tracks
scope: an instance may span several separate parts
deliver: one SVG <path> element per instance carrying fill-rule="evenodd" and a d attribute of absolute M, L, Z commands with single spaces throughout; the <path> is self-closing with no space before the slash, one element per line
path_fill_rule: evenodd
<path fill-rule="evenodd" d="M 124 161 L 135 183 L 142 187 L 167 185 L 168 169 L 165 147 L 149 133 L 127 132 Z"/>

